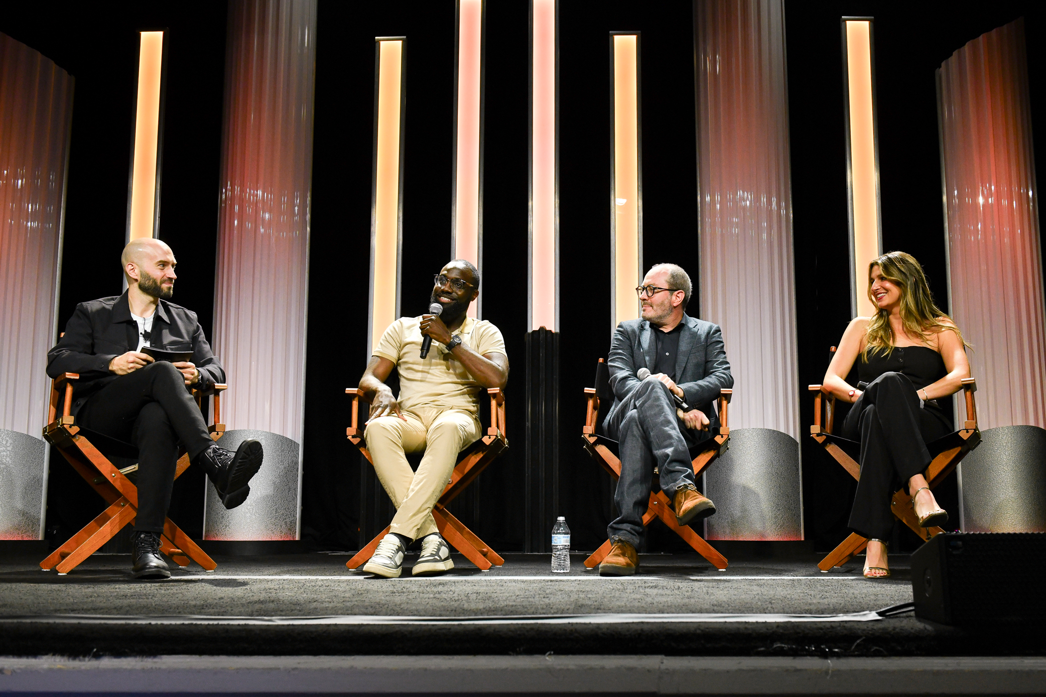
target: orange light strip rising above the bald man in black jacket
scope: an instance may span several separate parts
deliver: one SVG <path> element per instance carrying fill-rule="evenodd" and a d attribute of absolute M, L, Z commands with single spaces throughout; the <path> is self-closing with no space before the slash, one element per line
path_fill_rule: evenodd
<path fill-rule="evenodd" d="M 160 139 L 162 69 L 163 32 L 142 31 L 138 52 L 138 103 L 135 109 L 128 241 L 152 237 L 156 227 L 156 162 Z"/>

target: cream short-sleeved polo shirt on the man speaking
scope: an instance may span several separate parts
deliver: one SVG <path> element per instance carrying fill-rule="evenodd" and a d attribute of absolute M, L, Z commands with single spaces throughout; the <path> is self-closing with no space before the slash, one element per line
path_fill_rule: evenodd
<path fill-rule="evenodd" d="M 505 353 L 501 331 L 485 320 L 465 318 L 455 334 L 461 343 L 480 355 Z M 419 406 L 461 409 L 473 414 L 479 411 L 477 395 L 482 386 L 473 379 L 461 363 L 447 347 L 432 342 L 429 355 L 422 358 L 422 318 L 402 317 L 385 330 L 374 355 L 388 358 L 400 371 L 401 409 Z"/>

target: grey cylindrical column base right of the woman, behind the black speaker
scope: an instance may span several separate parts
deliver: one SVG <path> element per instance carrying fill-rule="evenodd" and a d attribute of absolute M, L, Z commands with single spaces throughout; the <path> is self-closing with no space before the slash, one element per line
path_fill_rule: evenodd
<path fill-rule="evenodd" d="M 959 465 L 962 532 L 1046 532 L 1046 431 L 999 426 Z"/>

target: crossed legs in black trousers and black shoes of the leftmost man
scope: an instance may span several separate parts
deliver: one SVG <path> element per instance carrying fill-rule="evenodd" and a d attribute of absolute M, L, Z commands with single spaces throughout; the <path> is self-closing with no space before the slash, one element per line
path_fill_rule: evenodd
<path fill-rule="evenodd" d="M 226 508 L 247 498 L 248 483 L 262 466 L 262 443 L 255 440 L 244 441 L 235 454 L 214 444 L 181 371 L 166 362 L 151 363 L 101 388 L 81 408 L 76 421 L 138 449 L 136 578 L 170 576 L 160 556 L 160 535 L 170 505 L 179 443 L 207 472 Z"/>

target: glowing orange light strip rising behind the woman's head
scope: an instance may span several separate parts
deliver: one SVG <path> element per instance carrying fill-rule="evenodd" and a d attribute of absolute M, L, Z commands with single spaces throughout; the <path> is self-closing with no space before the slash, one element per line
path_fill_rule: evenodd
<path fill-rule="evenodd" d="M 868 300 L 868 263 L 882 254 L 879 215 L 879 157 L 872 98 L 871 22 L 847 20 L 846 83 L 849 114 L 850 235 L 854 311 L 876 313 Z"/>

